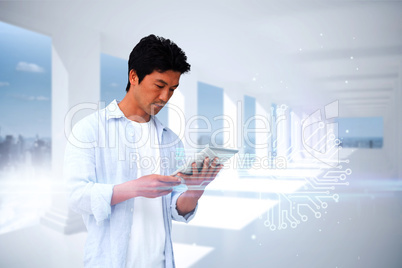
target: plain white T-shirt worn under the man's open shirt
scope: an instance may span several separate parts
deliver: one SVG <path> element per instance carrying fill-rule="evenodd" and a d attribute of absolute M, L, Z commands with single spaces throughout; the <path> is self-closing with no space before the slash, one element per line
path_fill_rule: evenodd
<path fill-rule="evenodd" d="M 137 178 L 160 174 L 159 142 L 153 120 L 147 123 L 132 122 L 137 150 Z M 126 267 L 164 267 L 165 227 L 162 197 L 135 197 L 133 224 Z"/>

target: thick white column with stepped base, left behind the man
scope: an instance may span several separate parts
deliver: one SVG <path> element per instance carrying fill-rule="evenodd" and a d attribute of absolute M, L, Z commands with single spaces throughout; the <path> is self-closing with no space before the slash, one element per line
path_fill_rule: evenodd
<path fill-rule="evenodd" d="M 41 223 L 65 234 L 83 230 L 81 216 L 70 211 L 63 180 L 64 149 L 71 126 L 94 112 L 100 99 L 99 33 L 65 28 L 52 35 L 52 176 L 51 209 Z M 71 113 L 76 105 L 81 108 Z M 70 111 L 70 113 L 69 113 Z M 67 126 L 67 129 L 65 129 Z"/>

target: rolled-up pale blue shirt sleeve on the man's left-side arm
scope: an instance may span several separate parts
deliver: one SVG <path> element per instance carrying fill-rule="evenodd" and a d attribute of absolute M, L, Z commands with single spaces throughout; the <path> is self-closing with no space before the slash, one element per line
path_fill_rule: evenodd
<path fill-rule="evenodd" d="M 97 183 L 96 140 L 91 138 L 94 131 L 88 126 L 90 124 L 80 121 L 73 128 L 65 151 L 64 177 L 69 189 L 70 208 L 83 215 L 93 215 L 96 223 L 101 225 L 111 214 L 114 185 Z"/>

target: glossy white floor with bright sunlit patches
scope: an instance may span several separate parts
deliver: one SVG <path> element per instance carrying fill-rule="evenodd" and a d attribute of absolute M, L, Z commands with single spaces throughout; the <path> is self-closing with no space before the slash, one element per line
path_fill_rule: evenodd
<path fill-rule="evenodd" d="M 337 190 L 339 202 L 320 208 L 320 218 L 305 211 L 308 220 L 295 228 L 271 231 L 266 226 L 268 213 L 279 211 L 278 204 L 268 202 L 269 191 L 210 191 L 192 224 L 173 226 L 177 267 L 402 267 L 402 181 L 387 174 L 379 151 L 350 160 L 350 185 Z M 6 216 L 27 219 L 46 198 L 18 199 L 2 189 L 0 222 L 9 229 L 0 232 L 0 267 L 82 267 L 86 233 L 62 235 L 34 220 L 6 224 Z M 23 204 L 13 206 L 25 204 L 25 210 L 4 205 L 18 200 Z"/>

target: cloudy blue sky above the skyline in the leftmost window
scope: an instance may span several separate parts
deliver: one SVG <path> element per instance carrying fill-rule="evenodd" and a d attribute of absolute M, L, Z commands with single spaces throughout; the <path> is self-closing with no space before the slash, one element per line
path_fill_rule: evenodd
<path fill-rule="evenodd" d="M 1 136 L 50 136 L 51 38 L 0 22 Z"/>

